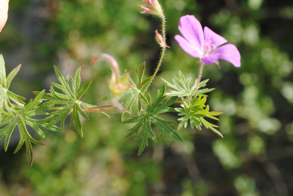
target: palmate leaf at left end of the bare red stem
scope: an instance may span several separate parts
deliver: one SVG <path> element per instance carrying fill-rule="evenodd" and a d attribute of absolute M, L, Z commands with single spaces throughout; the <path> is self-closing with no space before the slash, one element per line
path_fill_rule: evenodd
<path fill-rule="evenodd" d="M 60 84 L 51 83 L 52 84 L 51 93 L 45 93 L 43 96 L 43 100 L 48 100 L 46 102 L 47 105 L 49 105 L 50 107 L 56 106 L 59 110 L 50 113 L 50 115 L 52 116 L 52 120 L 50 120 L 50 122 L 47 124 L 45 129 L 50 129 L 59 121 L 61 122 L 61 127 L 63 128 L 66 117 L 72 114 L 69 125 L 71 125 L 74 122 L 76 130 L 79 132 L 80 136 L 83 137 L 79 114 L 81 114 L 81 116 L 84 117 L 86 120 L 89 120 L 87 115 L 82 110 L 81 106 L 90 105 L 90 104 L 80 101 L 80 98 L 90 86 L 91 81 L 89 81 L 83 87 L 80 88 L 81 67 L 79 67 L 76 70 L 74 76 L 71 77 L 71 88 L 70 88 L 69 75 L 64 79 L 61 72 L 56 66 L 54 66 L 54 70 Z M 56 92 L 54 88 L 59 89 L 62 93 Z M 40 92 L 33 92 L 33 93 L 38 95 Z M 58 107 L 59 105 L 62 105 L 64 107 L 63 108 Z"/>

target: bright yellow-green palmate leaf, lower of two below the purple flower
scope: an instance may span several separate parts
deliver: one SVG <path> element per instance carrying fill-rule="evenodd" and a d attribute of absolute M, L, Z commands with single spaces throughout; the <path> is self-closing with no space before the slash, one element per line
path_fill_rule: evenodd
<path fill-rule="evenodd" d="M 218 127 L 217 125 L 213 125 L 212 123 L 207 122 L 204 117 L 209 117 L 214 120 L 219 120 L 218 118 L 214 117 L 220 115 L 221 111 L 210 112 L 209 105 L 205 105 L 207 97 L 203 97 L 202 94 L 200 96 L 193 96 L 191 100 L 183 100 L 183 108 L 175 108 L 177 112 L 179 112 L 178 116 L 182 116 L 178 118 L 180 121 L 178 130 L 180 130 L 183 125 L 186 128 L 188 124 L 188 120 L 190 123 L 190 127 L 196 127 L 197 129 L 201 130 L 201 126 L 204 125 L 206 128 L 212 129 L 215 133 L 219 136 L 223 137 L 223 135 L 214 127 Z M 204 109 L 205 108 L 205 109 Z"/>

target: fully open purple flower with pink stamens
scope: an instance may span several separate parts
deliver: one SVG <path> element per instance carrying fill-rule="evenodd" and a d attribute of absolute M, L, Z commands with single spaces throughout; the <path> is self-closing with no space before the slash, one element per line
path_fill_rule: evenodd
<path fill-rule="evenodd" d="M 183 37 L 175 35 L 175 40 L 186 53 L 200 58 L 205 64 L 219 64 L 218 59 L 222 59 L 240 67 L 240 53 L 236 46 L 223 45 L 227 40 L 208 27 L 202 30 L 202 25 L 194 16 L 182 16 L 178 29 Z"/>

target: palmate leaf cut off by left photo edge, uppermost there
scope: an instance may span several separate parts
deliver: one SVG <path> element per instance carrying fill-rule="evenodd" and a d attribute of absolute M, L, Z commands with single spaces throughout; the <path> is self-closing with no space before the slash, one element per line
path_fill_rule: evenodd
<path fill-rule="evenodd" d="M 8 90 L 12 79 L 16 76 L 20 68 L 21 65 L 18 65 L 6 77 L 4 58 L 2 54 L 0 54 L 0 122 L 2 119 L 2 113 L 6 115 L 13 115 L 11 110 L 13 106 L 11 102 L 22 107 L 25 105 L 25 103 L 22 101 L 25 100 L 24 97 L 18 96 Z"/>

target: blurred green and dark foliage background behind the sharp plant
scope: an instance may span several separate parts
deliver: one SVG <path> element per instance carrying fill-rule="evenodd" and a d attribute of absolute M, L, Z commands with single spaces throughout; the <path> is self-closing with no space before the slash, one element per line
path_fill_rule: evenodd
<path fill-rule="evenodd" d="M 121 70 L 134 72 L 145 60 L 148 74 L 160 48 L 154 31 L 160 21 L 137 4 L 141 0 L 11 0 L 8 22 L 0 34 L 0 53 L 7 72 L 21 71 L 11 85 L 17 94 L 50 88 L 57 81 L 53 64 L 63 74 L 82 66 L 83 83 L 93 83 L 83 100 L 99 100 L 109 93 L 110 69 L 91 64 L 90 57 L 109 53 Z M 180 16 L 195 15 L 241 53 L 241 67 L 221 61 L 221 69 L 205 67 L 209 78 L 207 103 L 220 115 L 219 130 L 181 129 L 185 143 L 168 135 L 149 142 L 137 156 L 139 141 L 125 139 L 131 125 L 119 114 L 91 114 L 83 122 L 84 138 L 74 127 L 45 131 L 46 146 L 34 145 L 33 166 L 25 148 L 13 155 L 15 130 L 5 153 L 0 151 L 0 195 L 154 195 L 154 196 L 289 196 L 293 195 L 293 4 L 292 0 L 161 0 L 171 46 L 151 93 L 180 69 L 195 78 L 197 59 L 173 39 Z M 165 115 L 176 120 L 175 114 Z M 215 122 L 218 123 L 218 122 Z M 178 122 L 172 125 L 178 126 Z M 189 126 L 189 125 L 188 125 Z M 154 128 L 156 130 L 156 128 Z M 1 146 L 4 140 L 0 141 Z"/>

